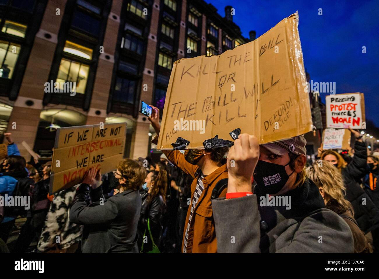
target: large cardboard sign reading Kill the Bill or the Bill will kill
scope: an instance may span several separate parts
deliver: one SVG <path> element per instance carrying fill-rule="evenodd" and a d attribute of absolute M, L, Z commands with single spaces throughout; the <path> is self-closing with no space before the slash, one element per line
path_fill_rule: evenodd
<path fill-rule="evenodd" d="M 172 149 L 178 137 L 187 149 L 204 148 L 217 135 L 232 140 L 237 128 L 259 143 L 309 132 L 306 82 L 298 13 L 221 55 L 175 61 L 157 148 Z"/>

